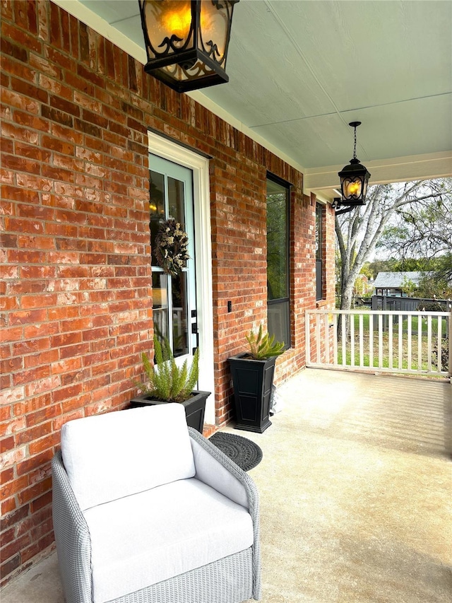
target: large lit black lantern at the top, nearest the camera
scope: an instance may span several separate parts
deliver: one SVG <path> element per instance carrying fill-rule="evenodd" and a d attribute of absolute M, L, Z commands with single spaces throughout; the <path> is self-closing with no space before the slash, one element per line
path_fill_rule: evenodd
<path fill-rule="evenodd" d="M 239 0 L 138 0 L 145 71 L 177 92 L 229 81 L 232 11 Z"/>

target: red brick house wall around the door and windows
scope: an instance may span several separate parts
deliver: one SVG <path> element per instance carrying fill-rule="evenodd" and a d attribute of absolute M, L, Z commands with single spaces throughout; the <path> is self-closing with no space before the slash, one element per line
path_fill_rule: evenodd
<path fill-rule="evenodd" d="M 212 157 L 218 426 L 232 414 L 227 358 L 266 321 L 266 170 L 294 185 L 292 349 L 278 359 L 279 382 L 304 365 L 315 201 L 303 197 L 299 172 L 47 0 L 1 2 L 1 61 L 6 582 L 52 546 L 50 459 L 61 425 L 124 408 L 151 346 L 147 129 Z"/>

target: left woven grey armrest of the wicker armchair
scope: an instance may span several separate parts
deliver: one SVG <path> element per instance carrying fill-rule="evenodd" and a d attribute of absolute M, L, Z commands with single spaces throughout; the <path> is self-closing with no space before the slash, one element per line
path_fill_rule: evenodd
<path fill-rule="evenodd" d="M 52 513 L 66 603 L 92 603 L 88 525 L 64 469 L 61 451 L 52 459 Z"/>

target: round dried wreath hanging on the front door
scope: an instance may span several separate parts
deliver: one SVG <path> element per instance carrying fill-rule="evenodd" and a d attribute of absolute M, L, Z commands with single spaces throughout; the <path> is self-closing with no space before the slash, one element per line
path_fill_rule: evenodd
<path fill-rule="evenodd" d="M 161 222 L 155 237 L 155 259 L 167 274 L 177 276 L 189 259 L 189 237 L 181 223 L 168 218 Z"/>

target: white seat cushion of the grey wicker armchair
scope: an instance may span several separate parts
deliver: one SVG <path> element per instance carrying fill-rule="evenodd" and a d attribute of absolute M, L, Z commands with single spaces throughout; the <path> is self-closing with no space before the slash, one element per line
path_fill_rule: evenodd
<path fill-rule="evenodd" d="M 248 549 L 248 511 L 196 478 L 84 512 L 94 603 L 105 603 Z"/>

